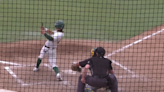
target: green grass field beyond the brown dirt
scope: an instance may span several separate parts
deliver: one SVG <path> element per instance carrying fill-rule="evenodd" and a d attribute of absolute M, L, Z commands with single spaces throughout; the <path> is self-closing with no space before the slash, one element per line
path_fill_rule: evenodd
<path fill-rule="evenodd" d="M 118 41 L 164 22 L 163 0 L 0 0 L 0 42 L 45 39 L 41 22 L 65 22 L 66 39 Z"/>

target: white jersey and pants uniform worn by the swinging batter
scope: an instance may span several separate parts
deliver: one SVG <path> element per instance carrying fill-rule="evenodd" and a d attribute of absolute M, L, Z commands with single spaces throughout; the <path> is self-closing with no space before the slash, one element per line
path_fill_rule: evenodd
<path fill-rule="evenodd" d="M 49 41 L 47 40 L 45 42 L 45 45 L 42 47 L 41 51 L 40 51 L 40 55 L 39 58 L 42 59 L 45 56 L 48 56 L 48 61 L 50 63 L 50 65 L 52 67 L 56 67 L 56 48 L 58 43 L 62 40 L 62 38 L 64 37 L 64 33 L 63 32 L 57 32 L 54 31 L 54 34 L 51 35 L 53 37 L 53 41 Z"/>

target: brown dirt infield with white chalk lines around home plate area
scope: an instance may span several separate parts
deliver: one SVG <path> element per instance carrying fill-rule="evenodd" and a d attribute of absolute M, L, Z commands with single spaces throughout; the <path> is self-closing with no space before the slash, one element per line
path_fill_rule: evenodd
<path fill-rule="evenodd" d="M 55 79 L 47 59 L 43 59 L 39 72 L 32 71 L 44 40 L 2 43 L 0 89 L 76 92 L 80 73 L 70 71 L 71 63 L 89 58 L 91 48 L 102 46 L 106 49 L 106 57 L 113 60 L 119 92 L 163 92 L 163 28 L 164 25 L 161 25 L 117 43 L 63 39 L 57 48 L 57 65 L 64 79 L 62 82 Z"/>

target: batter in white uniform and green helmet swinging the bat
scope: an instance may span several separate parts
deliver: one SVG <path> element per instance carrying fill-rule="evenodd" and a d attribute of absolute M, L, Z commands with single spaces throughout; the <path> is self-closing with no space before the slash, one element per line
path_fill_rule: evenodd
<path fill-rule="evenodd" d="M 64 33 L 63 33 L 64 22 L 62 20 L 58 20 L 55 23 L 55 28 L 56 31 L 51 31 L 41 26 L 41 34 L 44 34 L 44 36 L 47 38 L 47 41 L 45 42 L 45 45 L 42 47 L 40 51 L 40 55 L 38 56 L 36 67 L 34 67 L 33 71 L 36 72 L 39 70 L 39 65 L 42 59 L 45 56 L 47 56 L 50 65 L 52 66 L 53 70 L 56 73 L 57 80 L 61 81 L 62 77 L 59 73 L 58 66 L 56 65 L 56 55 L 57 55 L 56 48 L 58 43 L 64 37 Z"/>

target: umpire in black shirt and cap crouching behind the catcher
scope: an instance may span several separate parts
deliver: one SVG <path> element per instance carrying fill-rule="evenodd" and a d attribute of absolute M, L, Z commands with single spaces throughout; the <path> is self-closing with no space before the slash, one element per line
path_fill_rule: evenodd
<path fill-rule="evenodd" d="M 112 62 L 104 58 L 104 48 L 98 47 L 94 52 L 93 57 L 77 64 L 84 67 L 82 75 L 79 76 L 77 92 L 84 92 L 85 84 L 95 88 L 108 87 L 111 92 L 118 92 L 118 84 L 113 73 Z M 88 69 L 91 71 L 91 76 L 87 75 Z"/>

